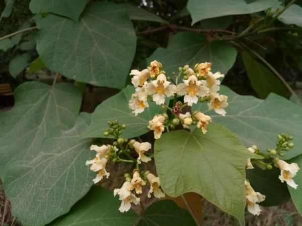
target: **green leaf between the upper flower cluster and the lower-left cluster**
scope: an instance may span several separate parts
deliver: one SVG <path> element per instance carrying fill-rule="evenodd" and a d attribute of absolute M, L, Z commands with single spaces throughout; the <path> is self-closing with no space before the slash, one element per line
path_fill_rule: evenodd
<path fill-rule="evenodd" d="M 101 103 L 92 115 L 91 126 L 81 136 L 105 138 L 103 134 L 105 129 L 108 128 L 107 122 L 116 119 L 120 124 L 127 125 L 121 135 L 123 138 L 138 137 L 147 133 L 149 131 L 147 128 L 149 120 L 152 120 L 155 114 L 160 113 L 162 108 L 155 102 L 149 103 L 149 107 L 144 112 L 134 116 L 128 106 L 129 99 L 134 92 L 133 86 L 127 86 L 120 93 Z"/>

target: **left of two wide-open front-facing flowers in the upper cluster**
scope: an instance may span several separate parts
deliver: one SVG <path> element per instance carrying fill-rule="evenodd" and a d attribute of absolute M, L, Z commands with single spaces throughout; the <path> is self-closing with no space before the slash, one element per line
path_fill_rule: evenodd
<path fill-rule="evenodd" d="M 147 84 L 146 92 L 153 95 L 153 100 L 161 105 L 165 102 L 165 95 L 169 97 L 175 93 L 176 86 L 170 83 L 167 81 L 166 75 L 160 74 L 156 80 Z"/>

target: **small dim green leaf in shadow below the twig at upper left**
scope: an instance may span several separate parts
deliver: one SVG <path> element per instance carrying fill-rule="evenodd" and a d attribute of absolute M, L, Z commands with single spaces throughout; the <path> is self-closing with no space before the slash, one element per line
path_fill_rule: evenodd
<path fill-rule="evenodd" d="M 14 78 L 29 66 L 30 58 L 29 53 L 23 53 L 22 55 L 15 56 L 10 61 L 9 69 Z"/>

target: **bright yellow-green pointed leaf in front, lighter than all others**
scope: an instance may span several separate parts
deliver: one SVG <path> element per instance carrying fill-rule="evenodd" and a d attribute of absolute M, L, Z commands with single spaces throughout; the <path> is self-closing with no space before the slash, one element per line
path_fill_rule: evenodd
<path fill-rule="evenodd" d="M 225 127 L 211 123 L 207 130 L 205 135 L 199 129 L 173 131 L 155 142 L 162 188 L 172 197 L 201 194 L 244 225 L 245 164 L 248 158 L 261 157 Z"/>

